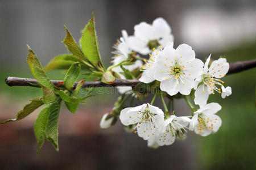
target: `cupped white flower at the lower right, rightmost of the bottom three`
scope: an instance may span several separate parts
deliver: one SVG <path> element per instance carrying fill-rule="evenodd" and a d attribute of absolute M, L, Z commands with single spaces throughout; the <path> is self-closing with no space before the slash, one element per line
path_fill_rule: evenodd
<path fill-rule="evenodd" d="M 221 106 L 218 103 L 209 103 L 197 110 L 189 124 L 189 130 L 194 130 L 196 134 L 205 137 L 216 133 L 221 126 L 221 118 L 215 113 L 220 111 Z"/>

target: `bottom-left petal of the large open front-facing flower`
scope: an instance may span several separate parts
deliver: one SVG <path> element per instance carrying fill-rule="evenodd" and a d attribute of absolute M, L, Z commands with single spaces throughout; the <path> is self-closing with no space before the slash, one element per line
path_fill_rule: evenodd
<path fill-rule="evenodd" d="M 160 89 L 171 96 L 176 95 L 177 92 L 179 92 L 179 86 L 177 86 L 177 82 L 174 78 L 163 80 L 160 83 Z"/>

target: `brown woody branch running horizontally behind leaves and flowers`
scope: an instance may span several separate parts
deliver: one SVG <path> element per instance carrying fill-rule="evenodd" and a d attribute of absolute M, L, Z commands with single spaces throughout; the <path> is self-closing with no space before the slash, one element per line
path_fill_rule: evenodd
<path fill-rule="evenodd" d="M 229 71 L 227 74 L 234 74 L 239 73 L 244 70 L 252 69 L 256 67 L 256 59 L 250 60 L 250 61 L 239 61 L 239 62 L 233 62 L 230 63 Z M 62 80 L 51 80 L 53 84 L 57 84 L 62 82 Z M 39 87 L 35 84 L 38 84 L 38 81 L 36 79 L 30 79 L 30 78 L 18 78 L 18 77 L 7 77 L 5 79 L 5 83 L 8 86 L 32 86 L 32 87 Z M 74 84 L 74 88 L 77 86 L 76 82 Z M 82 87 L 116 87 L 116 86 L 135 86 L 139 83 L 139 80 L 124 80 L 124 79 L 116 79 L 113 84 L 105 84 L 100 81 L 94 81 L 94 82 L 85 82 Z"/>

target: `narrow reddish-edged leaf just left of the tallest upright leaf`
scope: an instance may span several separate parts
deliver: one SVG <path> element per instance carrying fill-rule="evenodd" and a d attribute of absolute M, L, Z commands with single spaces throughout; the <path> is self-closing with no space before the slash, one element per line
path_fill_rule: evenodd
<path fill-rule="evenodd" d="M 65 36 L 65 38 L 62 42 L 68 48 L 68 51 L 71 52 L 74 56 L 80 58 L 82 61 L 87 61 L 87 59 L 84 56 L 84 54 L 82 53 L 81 49 L 76 44 L 75 39 L 73 39 L 71 33 L 68 31 L 68 28 L 65 25 L 64 25 L 64 28 L 67 31 L 67 35 Z"/>

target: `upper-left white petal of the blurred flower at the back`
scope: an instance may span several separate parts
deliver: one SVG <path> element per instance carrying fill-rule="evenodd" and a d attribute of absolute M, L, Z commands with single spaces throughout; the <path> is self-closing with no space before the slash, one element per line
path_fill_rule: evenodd
<path fill-rule="evenodd" d="M 154 33 L 154 28 L 148 23 L 142 22 L 134 26 L 134 35 L 143 41 L 154 40 Z"/>

